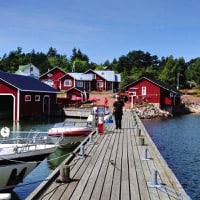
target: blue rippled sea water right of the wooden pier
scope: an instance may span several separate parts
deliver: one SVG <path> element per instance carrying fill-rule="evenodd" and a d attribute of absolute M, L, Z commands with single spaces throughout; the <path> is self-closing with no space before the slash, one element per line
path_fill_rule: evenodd
<path fill-rule="evenodd" d="M 193 200 L 200 199 L 200 115 L 143 120 L 154 143 Z"/>

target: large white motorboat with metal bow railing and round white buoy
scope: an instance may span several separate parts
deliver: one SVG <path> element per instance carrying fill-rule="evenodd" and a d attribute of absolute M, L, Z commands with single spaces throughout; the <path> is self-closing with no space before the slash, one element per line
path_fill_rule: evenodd
<path fill-rule="evenodd" d="M 9 128 L 1 129 L 0 191 L 12 190 L 56 148 L 47 136 L 8 138 Z"/>

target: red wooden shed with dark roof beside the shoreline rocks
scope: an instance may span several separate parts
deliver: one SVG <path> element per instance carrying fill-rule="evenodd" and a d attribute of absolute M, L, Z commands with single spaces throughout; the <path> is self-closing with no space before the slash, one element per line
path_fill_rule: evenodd
<path fill-rule="evenodd" d="M 132 104 L 151 103 L 163 110 L 180 105 L 180 93 L 159 80 L 142 77 L 124 87 Z"/>

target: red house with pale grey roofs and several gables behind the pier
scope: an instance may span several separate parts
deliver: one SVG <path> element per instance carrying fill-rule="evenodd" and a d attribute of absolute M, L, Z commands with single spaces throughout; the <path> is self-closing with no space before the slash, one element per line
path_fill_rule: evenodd
<path fill-rule="evenodd" d="M 84 73 L 66 73 L 54 67 L 39 78 L 42 82 L 62 91 L 76 87 L 86 91 L 118 91 L 120 74 L 111 70 L 87 70 Z"/>

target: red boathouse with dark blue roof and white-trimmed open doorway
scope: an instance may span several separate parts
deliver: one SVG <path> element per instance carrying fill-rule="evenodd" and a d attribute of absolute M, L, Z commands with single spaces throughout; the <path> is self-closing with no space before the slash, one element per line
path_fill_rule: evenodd
<path fill-rule="evenodd" d="M 19 121 L 50 115 L 57 92 L 36 78 L 0 72 L 0 117 Z"/>

